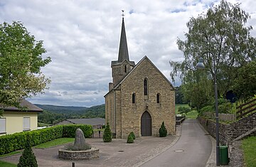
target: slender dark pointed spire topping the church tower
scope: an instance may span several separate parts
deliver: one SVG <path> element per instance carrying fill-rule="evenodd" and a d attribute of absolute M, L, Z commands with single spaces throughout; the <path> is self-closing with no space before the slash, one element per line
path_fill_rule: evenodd
<path fill-rule="evenodd" d="M 128 47 L 127 47 L 127 38 L 124 28 L 124 10 L 122 10 L 122 30 L 119 44 L 119 54 L 118 54 L 118 62 L 122 63 L 123 60 L 129 61 Z"/>

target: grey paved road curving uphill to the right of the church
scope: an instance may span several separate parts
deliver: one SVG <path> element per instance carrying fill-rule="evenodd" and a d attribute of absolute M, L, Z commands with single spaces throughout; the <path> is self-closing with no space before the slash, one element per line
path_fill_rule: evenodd
<path fill-rule="evenodd" d="M 210 138 L 197 120 L 186 119 L 181 127 L 181 138 L 177 143 L 142 166 L 205 167 L 211 150 Z"/>

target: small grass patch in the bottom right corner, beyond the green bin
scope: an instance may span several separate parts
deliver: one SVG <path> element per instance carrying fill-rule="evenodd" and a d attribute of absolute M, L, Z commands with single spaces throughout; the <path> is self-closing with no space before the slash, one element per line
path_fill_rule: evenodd
<path fill-rule="evenodd" d="M 244 152 L 245 166 L 256 166 L 256 136 L 242 140 L 242 149 Z"/>

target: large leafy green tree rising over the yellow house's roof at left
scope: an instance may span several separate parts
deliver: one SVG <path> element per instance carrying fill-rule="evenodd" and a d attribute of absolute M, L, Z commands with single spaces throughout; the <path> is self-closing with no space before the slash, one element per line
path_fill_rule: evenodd
<path fill-rule="evenodd" d="M 19 107 L 19 100 L 43 92 L 50 80 L 41 67 L 43 41 L 36 41 L 21 22 L 0 24 L 0 104 Z"/>

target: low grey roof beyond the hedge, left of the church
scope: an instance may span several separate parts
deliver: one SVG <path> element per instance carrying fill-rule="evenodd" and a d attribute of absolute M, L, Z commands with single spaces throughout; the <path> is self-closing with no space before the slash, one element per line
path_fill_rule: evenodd
<path fill-rule="evenodd" d="M 105 124 L 104 118 L 66 119 L 66 120 L 73 124 L 90 124 L 90 125 Z"/>

